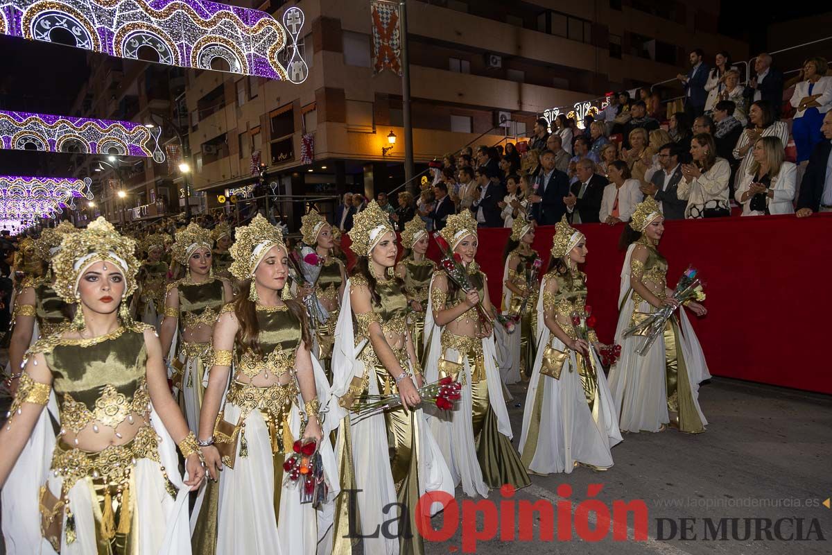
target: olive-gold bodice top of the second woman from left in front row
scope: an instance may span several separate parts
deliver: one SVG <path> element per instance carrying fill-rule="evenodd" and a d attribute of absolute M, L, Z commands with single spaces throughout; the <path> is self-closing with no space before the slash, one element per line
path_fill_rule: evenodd
<path fill-rule="evenodd" d="M 228 304 L 222 312 L 233 312 Z M 257 325 L 260 329 L 257 342 L 260 352 L 255 353 L 239 343 L 235 344 L 235 369 L 249 378 L 265 372 L 276 376 L 295 371 L 295 355 L 302 339 L 301 322 L 286 305 L 265 307 L 257 305 Z"/>

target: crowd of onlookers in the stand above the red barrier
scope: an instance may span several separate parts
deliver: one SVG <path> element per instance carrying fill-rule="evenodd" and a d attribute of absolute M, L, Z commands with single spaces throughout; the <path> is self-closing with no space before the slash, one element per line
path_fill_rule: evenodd
<path fill-rule="evenodd" d="M 745 84 L 728 52 L 718 52 L 713 67 L 701 50 L 690 62 L 671 108 L 646 87 L 637 98 L 618 92 L 582 126 L 564 114 L 551 124 L 540 118 L 527 141 L 468 146 L 433 161 L 418 197 L 399 193 L 393 206 L 380 193 L 379 205 L 394 225 L 418 217 L 428 230 L 463 210 L 483 227 L 509 227 L 521 216 L 551 225 L 563 215 L 614 225 L 629 221 L 644 196 L 654 196 L 669 220 L 730 216 L 740 206 L 743 216 L 792 213 L 795 204 L 798 216 L 832 211 L 826 60 L 811 57 L 785 82 L 763 53 Z M 794 161 L 786 160 L 790 136 Z M 334 224 L 349 230 L 366 201 L 345 195 Z"/>

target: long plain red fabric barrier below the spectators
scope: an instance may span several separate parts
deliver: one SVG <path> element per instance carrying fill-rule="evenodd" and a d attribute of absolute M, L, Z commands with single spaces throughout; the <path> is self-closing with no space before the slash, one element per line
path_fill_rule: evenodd
<path fill-rule="evenodd" d="M 597 315 L 599 339 L 612 342 L 624 252 L 623 225 L 577 225 L 587 235 L 588 303 Z M 480 229 L 477 261 L 488 275 L 492 302 L 503 285 L 503 249 L 510 230 Z M 554 226 L 538 227 L 534 249 L 549 261 Z M 343 246 L 349 245 L 344 235 Z M 824 362 L 832 314 L 832 214 L 809 218 L 754 216 L 667 221 L 659 250 L 669 285 L 687 265 L 706 282 L 708 315 L 688 312 L 711 374 L 832 394 Z M 349 252 L 349 250 L 345 250 Z M 431 244 L 428 256 L 438 260 Z"/>

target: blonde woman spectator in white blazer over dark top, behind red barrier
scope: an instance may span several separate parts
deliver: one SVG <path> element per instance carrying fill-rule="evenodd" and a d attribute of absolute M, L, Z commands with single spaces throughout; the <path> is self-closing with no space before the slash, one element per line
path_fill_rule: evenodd
<path fill-rule="evenodd" d="M 794 213 L 797 166 L 783 160 L 783 143 L 775 136 L 764 136 L 757 139 L 751 152 L 754 160 L 734 193 L 742 215 Z"/>

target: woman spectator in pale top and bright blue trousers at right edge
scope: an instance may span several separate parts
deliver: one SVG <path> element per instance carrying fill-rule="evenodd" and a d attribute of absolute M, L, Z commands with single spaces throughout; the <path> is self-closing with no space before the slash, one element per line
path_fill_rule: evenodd
<path fill-rule="evenodd" d="M 803 81 L 795 85 L 791 96 L 791 105 L 797 109 L 791 134 L 797 146 L 798 164 L 808 161 L 815 145 L 823 141 L 820 125 L 824 114 L 832 108 L 832 77 L 826 77 L 828 70 L 826 58 L 812 57 L 803 62 Z"/>

